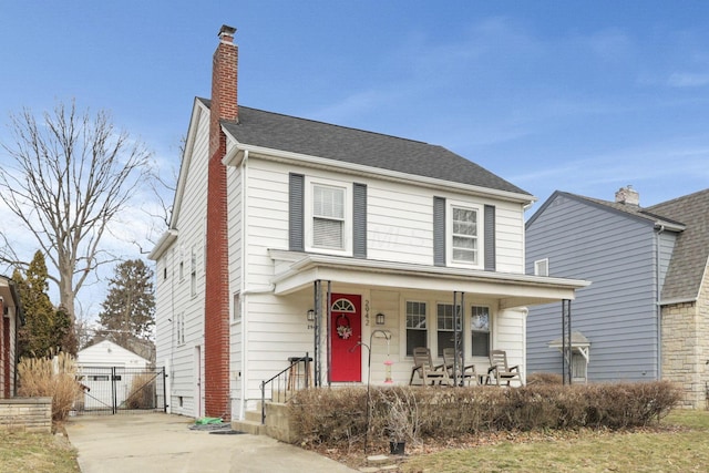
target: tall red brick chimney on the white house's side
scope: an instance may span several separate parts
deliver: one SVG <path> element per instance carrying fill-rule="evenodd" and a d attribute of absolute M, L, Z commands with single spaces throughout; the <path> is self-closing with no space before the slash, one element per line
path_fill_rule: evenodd
<path fill-rule="evenodd" d="M 220 121 L 238 119 L 236 28 L 223 25 L 212 64 L 209 164 L 207 174 L 207 236 L 204 316 L 205 414 L 230 419 L 229 400 L 229 266 L 226 136 Z"/>

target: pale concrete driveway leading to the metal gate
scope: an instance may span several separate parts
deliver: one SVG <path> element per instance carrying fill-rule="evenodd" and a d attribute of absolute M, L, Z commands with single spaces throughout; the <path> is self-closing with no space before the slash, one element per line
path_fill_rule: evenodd
<path fill-rule="evenodd" d="M 189 430 L 189 418 L 151 413 L 71 418 L 69 441 L 83 473 L 353 472 L 263 435 Z"/>

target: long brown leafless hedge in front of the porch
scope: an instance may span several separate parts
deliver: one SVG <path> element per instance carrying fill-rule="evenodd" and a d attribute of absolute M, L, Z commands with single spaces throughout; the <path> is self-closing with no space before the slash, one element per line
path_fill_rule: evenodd
<path fill-rule="evenodd" d="M 418 442 L 546 429 L 623 429 L 659 420 L 681 399 L 667 381 L 522 388 L 371 388 L 369 436 Z M 366 388 L 299 391 L 289 405 L 302 445 L 349 449 L 367 431 Z"/>

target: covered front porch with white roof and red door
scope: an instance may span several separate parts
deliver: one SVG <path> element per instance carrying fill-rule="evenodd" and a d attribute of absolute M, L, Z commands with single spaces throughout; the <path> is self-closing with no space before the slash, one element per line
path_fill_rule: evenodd
<path fill-rule="evenodd" d="M 311 300 L 312 384 L 408 384 L 413 349 L 462 353 L 479 373 L 502 349 L 524 379 L 526 307 L 562 302 L 589 282 L 271 250 L 278 298 Z M 307 295 L 307 296 L 306 296 Z M 559 305 L 559 312 L 561 312 Z"/>

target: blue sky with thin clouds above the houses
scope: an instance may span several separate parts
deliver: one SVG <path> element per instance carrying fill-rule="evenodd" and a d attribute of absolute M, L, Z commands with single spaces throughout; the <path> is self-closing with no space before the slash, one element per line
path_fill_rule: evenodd
<path fill-rule="evenodd" d="M 223 23 L 242 104 L 443 145 L 538 197 L 527 216 L 555 189 L 709 187 L 705 1 L 0 0 L 0 141 L 75 97 L 171 175 Z"/>

